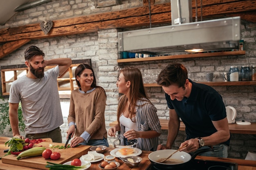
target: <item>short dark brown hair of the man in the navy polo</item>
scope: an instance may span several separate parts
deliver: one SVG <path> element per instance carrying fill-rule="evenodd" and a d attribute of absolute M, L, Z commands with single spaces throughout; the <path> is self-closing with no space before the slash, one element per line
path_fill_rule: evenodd
<path fill-rule="evenodd" d="M 157 84 L 160 86 L 171 86 L 173 84 L 185 88 L 188 79 L 188 71 L 183 64 L 175 63 L 166 66 L 157 77 Z"/>

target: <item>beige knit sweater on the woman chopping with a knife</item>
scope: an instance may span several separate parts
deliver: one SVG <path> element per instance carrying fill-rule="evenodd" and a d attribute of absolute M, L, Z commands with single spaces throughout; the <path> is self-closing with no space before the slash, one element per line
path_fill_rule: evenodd
<path fill-rule="evenodd" d="M 85 94 L 79 93 L 78 89 L 72 91 L 67 121 L 68 124 L 72 121 L 76 123 L 75 136 L 86 131 L 90 134 L 90 139 L 107 139 L 105 107 L 106 96 L 101 88 Z"/>

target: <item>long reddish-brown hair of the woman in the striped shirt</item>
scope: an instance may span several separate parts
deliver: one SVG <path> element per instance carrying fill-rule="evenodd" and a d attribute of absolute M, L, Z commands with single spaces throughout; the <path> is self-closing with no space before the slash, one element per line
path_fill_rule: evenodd
<path fill-rule="evenodd" d="M 120 70 L 120 73 L 123 73 L 124 79 L 126 82 L 130 81 L 130 105 L 129 105 L 129 117 L 130 119 L 135 122 L 135 107 L 137 106 L 136 102 L 137 100 L 143 100 L 148 101 L 150 104 L 152 104 L 149 99 L 148 95 L 145 92 L 145 88 L 143 85 L 143 79 L 141 72 L 139 68 L 134 67 L 128 67 Z M 117 107 L 117 121 L 118 124 L 120 124 L 119 117 L 124 112 L 124 108 L 126 106 L 126 103 L 128 102 L 128 97 L 126 95 L 122 95 L 119 97 L 119 103 Z"/>

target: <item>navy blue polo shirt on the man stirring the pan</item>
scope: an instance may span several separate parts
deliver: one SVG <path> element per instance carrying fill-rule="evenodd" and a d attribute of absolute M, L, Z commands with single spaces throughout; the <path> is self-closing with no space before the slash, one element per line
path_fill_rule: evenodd
<path fill-rule="evenodd" d="M 186 140 L 212 135 L 217 132 L 212 121 L 227 117 L 222 97 L 216 90 L 190 79 L 189 82 L 192 83 L 189 98 L 184 97 L 182 101 L 171 100 L 170 96 L 165 94 L 168 108 L 175 109 L 186 126 Z M 229 140 L 223 143 L 229 146 Z"/>

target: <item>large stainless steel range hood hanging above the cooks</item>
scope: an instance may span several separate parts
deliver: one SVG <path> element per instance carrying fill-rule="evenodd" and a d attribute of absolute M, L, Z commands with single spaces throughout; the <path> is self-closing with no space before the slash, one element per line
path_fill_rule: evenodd
<path fill-rule="evenodd" d="M 118 49 L 152 55 L 191 49 L 220 51 L 238 49 L 239 40 L 240 17 L 231 17 L 119 32 Z"/>

